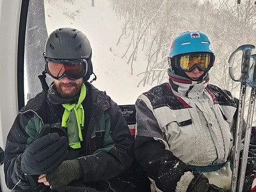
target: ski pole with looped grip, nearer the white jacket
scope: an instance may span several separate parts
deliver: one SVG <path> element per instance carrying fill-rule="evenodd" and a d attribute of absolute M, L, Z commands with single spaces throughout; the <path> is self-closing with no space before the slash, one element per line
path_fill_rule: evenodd
<path fill-rule="evenodd" d="M 239 168 L 241 136 L 242 136 L 242 127 L 243 127 L 243 113 L 245 108 L 246 84 L 249 81 L 249 71 L 250 71 L 249 63 L 251 59 L 252 49 L 254 48 L 255 48 L 254 45 L 249 45 L 249 44 L 241 45 L 231 54 L 229 58 L 229 63 L 231 63 L 231 61 L 233 61 L 233 58 L 237 52 L 239 51 L 243 52 L 240 79 L 235 79 L 233 74 L 233 68 L 229 67 L 229 75 L 231 79 L 237 82 L 241 82 L 240 98 L 239 98 L 239 106 L 238 106 L 238 114 L 237 114 L 237 122 L 236 122 L 235 152 L 234 152 L 234 158 L 233 158 L 231 192 L 235 192 L 236 186 L 237 186 L 237 174 L 238 174 L 238 168 Z"/>

